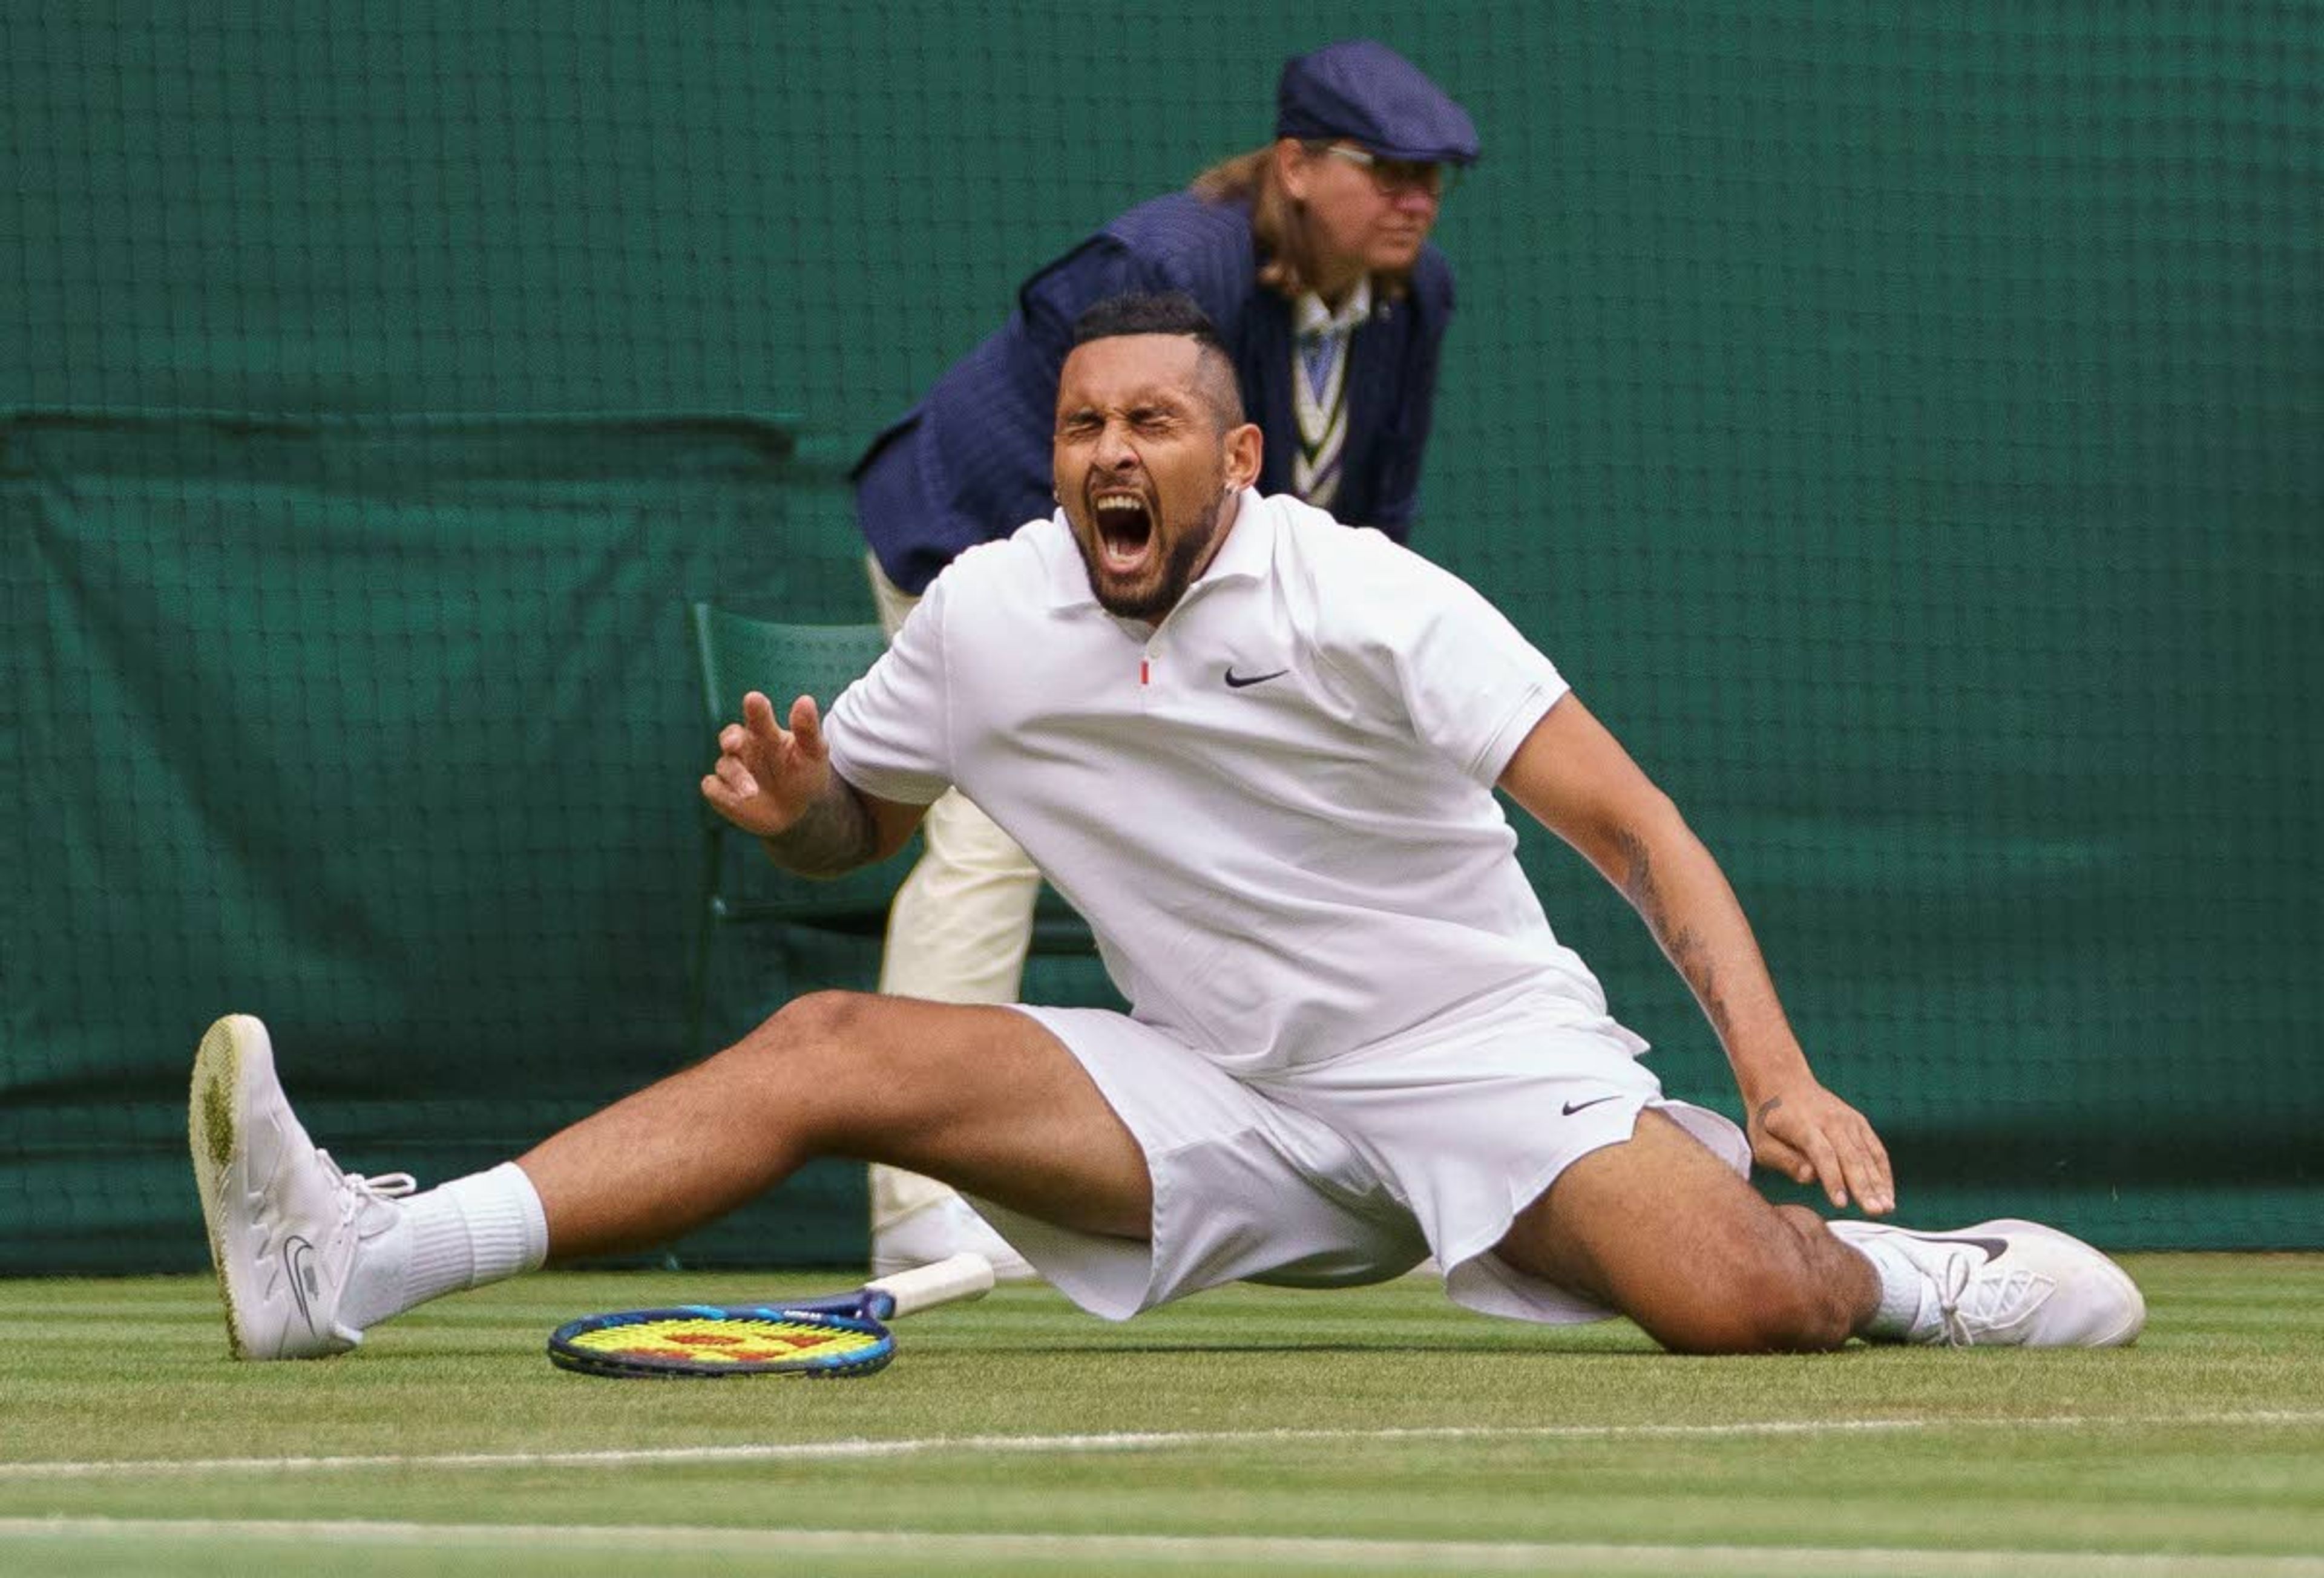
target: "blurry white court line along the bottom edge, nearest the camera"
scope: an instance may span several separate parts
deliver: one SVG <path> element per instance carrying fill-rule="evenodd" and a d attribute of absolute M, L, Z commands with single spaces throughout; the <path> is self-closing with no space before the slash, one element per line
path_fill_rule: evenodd
<path fill-rule="evenodd" d="M 2324 1557 L 2212 1557 L 2101 1550 L 1901 1548 L 1901 1545 L 1611 1545 L 1532 1541 L 1355 1541 L 1202 1534 L 960 1534 L 892 1529 L 711 1529 L 702 1525 L 476 1525 L 249 1518 L 0 1518 L 0 1538 L 49 1541 L 221 1541 L 307 1545 L 344 1557 L 349 1545 L 453 1550 L 532 1548 L 576 1552 L 737 1555 L 737 1557 L 916 1557 L 1050 1559 L 1122 1569 L 1211 1569 L 1222 1562 L 1304 1566 L 1334 1573 L 1367 1566 L 1525 1573 L 1713 1573 L 1796 1578 L 1878 1571 L 1889 1578 L 2317 1578 Z"/>

